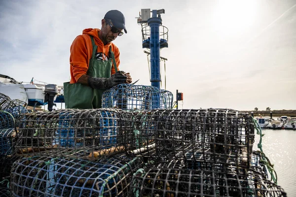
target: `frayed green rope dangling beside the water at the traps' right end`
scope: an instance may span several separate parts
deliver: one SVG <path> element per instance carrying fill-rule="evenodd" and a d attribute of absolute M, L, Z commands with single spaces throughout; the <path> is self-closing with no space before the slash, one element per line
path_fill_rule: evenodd
<path fill-rule="evenodd" d="M 260 149 L 260 152 L 261 152 L 261 155 L 262 155 L 262 160 L 260 160 L 260 162 L 263 163 L 267 167 L 267 169 L 268 169 L 268 171 L 269 171 L 269 173 L 271 175 L 271 180 L 273 180 L 274 183 L 277 184 L 277 174 L 276 174 L 276 171 L 273 168 L 274 164 L 270 163 L 269 159 L 265 156 L 265 154 L 263 153 L 263 150 L 262 150 L 262 144 L 261 143 L 262 143 L 262 137 L 264 136 L 264 134 L 262 134 L 262 130 L 261 130 L 261 127 L 260 127 L 257 119 L 255 119 L 253 117 L 252 117 L 252 119 L 253 119 L 254 126 L 255 126 L 255 128 L 257 130 L 257 134 L 260 135 L 260 140 L 259 140 L 259 143 L 258 143 L 258 148 Z"/>

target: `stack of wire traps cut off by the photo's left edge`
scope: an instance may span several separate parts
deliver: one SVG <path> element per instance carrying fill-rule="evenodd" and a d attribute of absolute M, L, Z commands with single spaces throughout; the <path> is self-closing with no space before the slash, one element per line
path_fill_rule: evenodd
<path fill-rule="evenodd" d="M 0 93 L 0 196 L 10 196 L 10 170 L 12 164 L 19 159 L 13 155 L 15 144 L 15 122 L 21 114 L 28 113 L 27 103 L 12 100 Z"/>

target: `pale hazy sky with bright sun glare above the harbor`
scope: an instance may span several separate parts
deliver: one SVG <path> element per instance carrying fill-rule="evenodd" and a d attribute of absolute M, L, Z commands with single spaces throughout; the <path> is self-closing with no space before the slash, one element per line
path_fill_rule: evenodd
<path fill-rule="evenodd" d="M 184 94 L 179 109 L 296 109 L 296 0 L 0 0 L 0 74 L 62 85 L 74 38 L 118 9 L 128 31 L 113 41 L 119 68 L 150 85 L 144 8 L 165 9 L 161 89 Z"/>

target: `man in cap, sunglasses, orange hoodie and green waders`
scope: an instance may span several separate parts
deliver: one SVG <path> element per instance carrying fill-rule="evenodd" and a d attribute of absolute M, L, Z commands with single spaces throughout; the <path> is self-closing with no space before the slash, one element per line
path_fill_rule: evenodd
<path fill-rule="evenodd" d="M 130 73 L 119 71 L 119 49 L 112 41 L 123 34 L 125 18 L 110 10 L 102 28 L 85 29 L 70 48 L 71 81 L 64 83 L 66 108 L 101 108 L 102 94 L 121 83 L 131 83 Z"/>

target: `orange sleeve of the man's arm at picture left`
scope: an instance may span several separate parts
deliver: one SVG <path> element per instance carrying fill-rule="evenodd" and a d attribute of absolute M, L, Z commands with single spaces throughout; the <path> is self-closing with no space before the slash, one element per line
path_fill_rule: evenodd
<path fill-rule="evenodd" d="M 88 51 L 86 41 L 82 35 L 78 35 L 70 48 L 70 83 L 77 83 L 78 79 L 88 70 Z"/>

